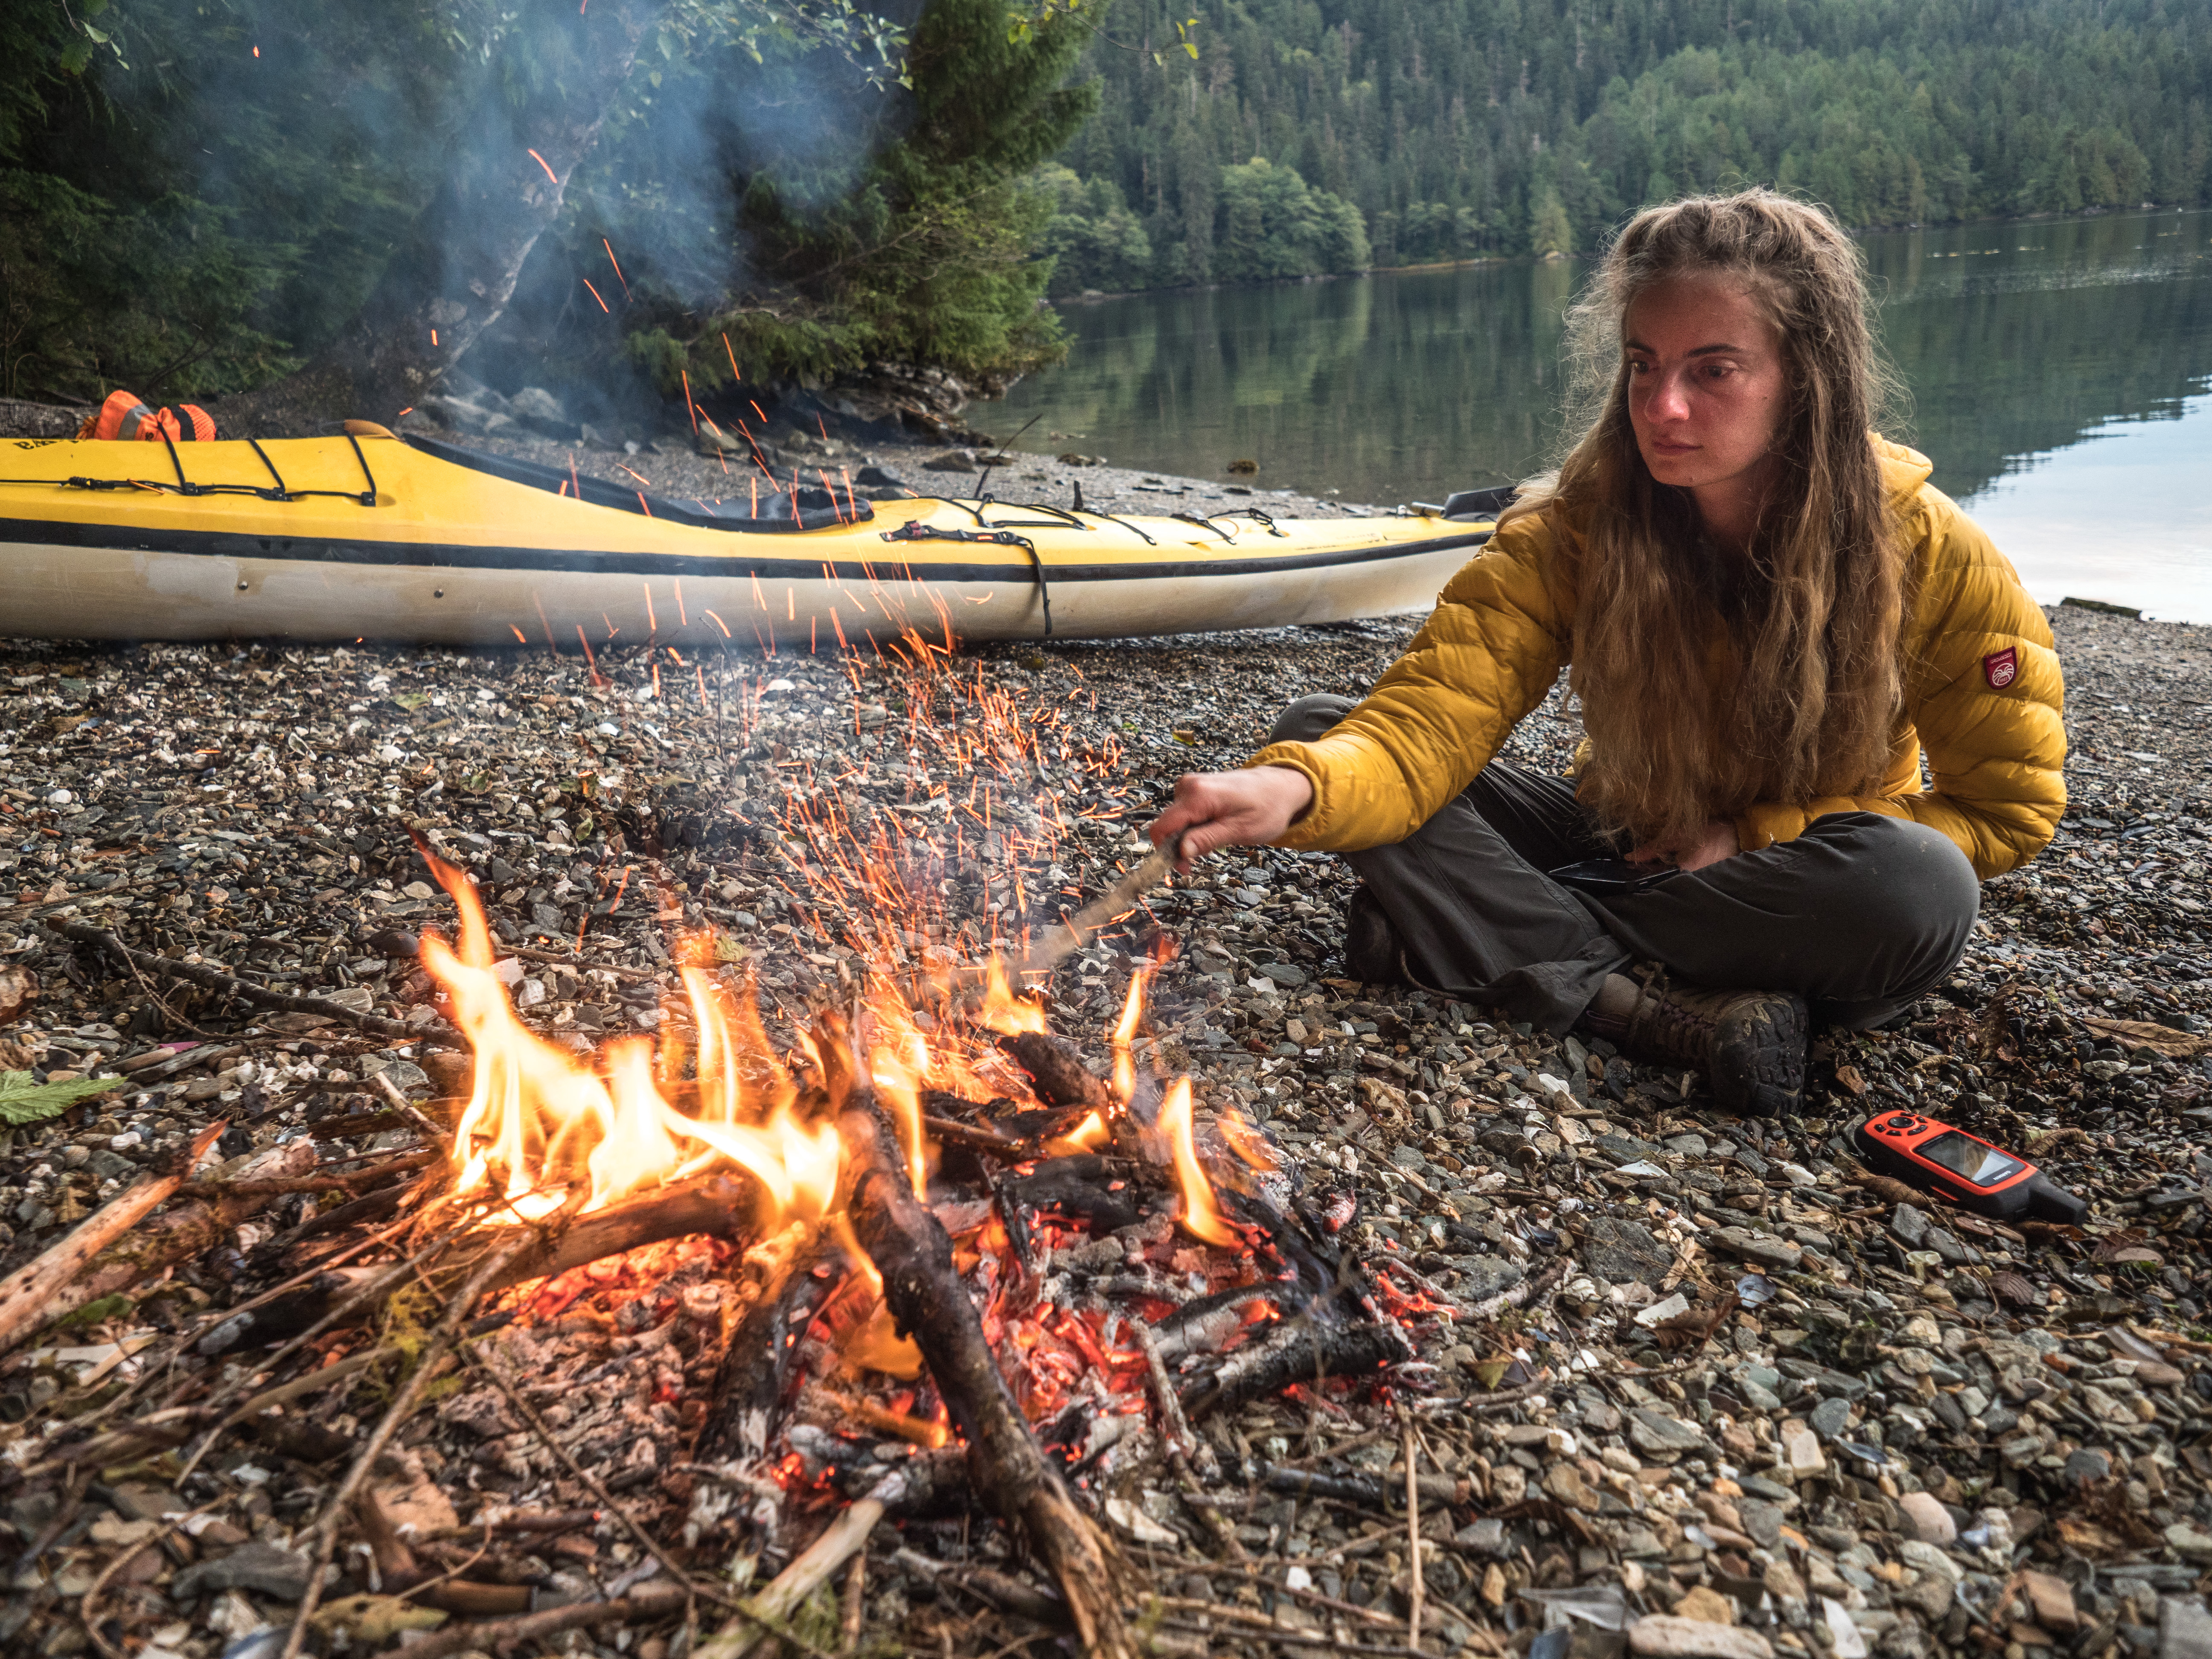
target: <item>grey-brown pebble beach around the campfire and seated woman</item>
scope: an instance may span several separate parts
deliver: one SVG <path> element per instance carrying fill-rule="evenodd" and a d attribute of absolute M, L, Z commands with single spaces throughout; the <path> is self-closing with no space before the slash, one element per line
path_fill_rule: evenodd
<path fill-rule="evenodd" d="M 799 453 L 787 436 L 776 460 Z M 805 460 L 854 480 L 874 469 L 891 482 L 865 493 L 896 500 L 969 493 L 975 476 L 951 456 L 975 467 L 973 451 L 825 431 Z M 688 440 L 580 460 L 604 476 L 619 460 L 670 495 L 730 493 L 723 458 Z M 1002 500 L 1068 507 L 1077 484 L 1117 513 L 1389 507 L 1033 449 L 991 471 Z M 1352 885 L 1323 854 L 1217 856 L 1062 964 L 1053 1029 L 1104 1066 L 1133 971 L 1164 958 L 1146 1064 L 1192 1075 L 1201 1115 L 1234 1106 L 1261 1126 L 1349 1217 L 1363 1259 L 1425 1287 L 1405 1314 L 1420 1360 L 1394 1387 L 1455 1402 L 1422 1418 L 1447 1498 L 1420 1526 L 1418 1579 L 1387 1498 L 1407 1478 L 1400 1440 L 1363 1433 L 1380 1416 L 1354 1387 L 1208 1420 L 1212 1493 L 1130 1478 L 1121 1498 L 1148 1524 L 1133 1548 L 1141 1537 L 1161 1588 L 1376 1652 L 1402 1650 L 1389 1644 L 1418 1582 L 1438 1652 L 2212 1655 L 2212 628 L 2064 606 L 2051 622 L 2068 677 L 2059 836 L 1986 885 L 1944 987 L 1891 1029 L 1818 1040 L 1803 1117 L 1728 1119 L 1694 1077 L 1610 1044 L 1347 980 Z M 679 672 L 622 646 L 586 664 L 0 644 L 0 1071 L 38 1102 L 0 1093 L 0 1270 L 215 1119 L 232 1168 L 296 1141 L 316 1164 L 434 1150 L 429 1119 L 387 1110 L 398 1097 L 436 1115 L 465 1091 L 449 1006 L 414 958 L 422 931 L 456 922 L 418 847 L 469 872 L 515 1004 L 549 1040 L 657 1033 L 675 1018 L 675 940 L 703 936 L 790 1042 L 887 938 L 838 847 L 927 867 L 929 918 L 896 936 L 973 960 L 1130 867 L 1177 774 L 1237 765 L 1301 695 L 1358 695 L 1413 626 L 1002 644 L 927 670 L 827 650 L 732 650 Z M 1509 754 L 1564 770 L 1573 741 L 1555 692 Z M 960 827 L 978 774 L 998 812 Z M 383 1026 L 146 973 L 91 933 Z M 33 1095 L 71 1084 L 86 1088 L 66 1108 Z M 1891 1106 L 2035 1159 L 2090 1201 L 2086 1225 L 1984 1221 L 1869 1172 L 1849 1128 Z M 9 1360 L 0 1455 L 44 1467 L 97 1413 L 100 1383 L 82 1380 L 97 1358 L 62 1349 L 197 1336 L 272 1281 L 319 1208 L 279 1197 Z M 1506 1318 L 1475 1312 L 1515 1290 L 1528 1294 Z M 646 1327 L 681 1310 L 670 1292 Z M 228 1363 L 179 1352 L 179 1376 Z M 577 1418 L 577 1444 L 591 1422 Z M 493 1502 L 588 1509 L 557 1469 L 480 1480 L 491 1462 L 476 1451 L 498 1429 L 425 1416 L 407 1433 L 462 1522 Z M 677 1411 L 637 1433 L 648 1455 L 630 1449 L 626 1467 L 684 1464 Z M 1298 1495 L 1270 1473 L 1287 1464 L 1336 1484 Z M 0 1648 L 86 1650 L 69 1630 L 95 1575 L 137 1548 L 128 1528 L 173 1509 L 221 1524 L 173 1535 L 137 1575 L 166 1608 L 164 1652 L 215 1659 L 281 1628 L 296 1573 L 217 1568 L 292 1559 L 330 1464 L 250 1447 L 184 1489 L 173 1478 L 146 1460 L 75 1495 L 15 1480 L 0 1526 L 38 1542 L 44 1566 L 4 1586 Z M 633 1484 L 628 1502 L 677 1537 L 684 1504 L 664 1486 Z M 1234 1571 L 1208 1504 L 1230 1520 Z M 880 1531 L 869 1641 L 989 1652 L 1020 1628 L 902 1566 L 902 1537 Z M 502 1559 L 515 1582 L 604 1593 L 628 1544 L 613 1520 L 582 1537 L 606 1551 L 597 1566 L 522 1546 Z M 1018 1568 L 1002 1546 L 980 1559 Z M 679 1621 L 664 1626 L 641 1648 L 655 1659 Z M 1208 1630 L 1210 1650 L 1245 1650 L 1232 1617 Z M 615 1652 L 604 1630 L 577 1641 Z"/>

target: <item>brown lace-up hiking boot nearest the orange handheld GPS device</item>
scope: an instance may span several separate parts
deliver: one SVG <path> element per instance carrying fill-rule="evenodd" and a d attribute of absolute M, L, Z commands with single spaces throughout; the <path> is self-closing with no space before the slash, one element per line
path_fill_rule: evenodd
<path fill-rule="evenodd" d="M 1586 1018 L 1635 1060 L 1694 1066 L 1723 1110 L 1796 1113 L 1805 1099 L 1805 998 L 1785 991 L 1699 991 L 1655 975 L 1626 1018 Z"/>

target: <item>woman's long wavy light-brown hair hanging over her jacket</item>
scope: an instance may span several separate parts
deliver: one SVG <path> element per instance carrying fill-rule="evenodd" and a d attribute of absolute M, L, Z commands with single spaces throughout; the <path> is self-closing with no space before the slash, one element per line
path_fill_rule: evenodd
<path fill-rule="evenodd" d="M 1652 480 L 1628 422 L 1624 319 L 1683 276 L 1739 285 L 1781 334 L 1781 467 L 1745 557 L 1714 551 L 1688 489 Z M 1575 307 L 1571 341 L 1597 414 L 1504 518 L 1546 513 L 1577 595 L 1584 805 L 1608 832 L 1679 845 L 1754 801 L 1867 792 L 1900 708 L 1909 593 L 1869 442 L 1893 380 L 1858 248 L 1772 190 L 1646 208 Z"/>

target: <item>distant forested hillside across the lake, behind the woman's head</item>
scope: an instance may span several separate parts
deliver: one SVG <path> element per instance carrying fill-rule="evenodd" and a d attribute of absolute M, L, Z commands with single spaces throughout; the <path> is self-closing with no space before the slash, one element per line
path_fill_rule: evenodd
<path fill-rule="evenodd" d="M 2212 199 L 2185 2 L 1117 0 L 1086 69 L 1055 292 L 1586 250 L 1741 181 L 1854 226 Z"/>

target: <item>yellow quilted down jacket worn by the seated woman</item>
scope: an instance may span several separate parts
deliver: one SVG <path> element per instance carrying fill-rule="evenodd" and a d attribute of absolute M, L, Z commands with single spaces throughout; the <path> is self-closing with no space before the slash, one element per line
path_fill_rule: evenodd
<path fill-rule="evenodd" d="M 1929 487 L 1929 460 L 1880 438 L 1876 449 L 1918 562 L 1889 772 L 1874 796 L 1761 801 L 1736 836 L 1752 852 L 1829 812 L 1882 812 L 1942 830 L 1989 878 L 2033 858 L 2066 810 L 2066 684 L 2044 613 L 1982 529 Z M 1542 515 L 1502 529 L 1340 726 L 1248 761 L 1314 785 L 1276 845 L 1387 847 L 1473 783 L 1573 655 L 1573 593 L 1546 580 L 1551 557 Z M 1922 750 L 1933 787 L 1922 787 Z"/>

